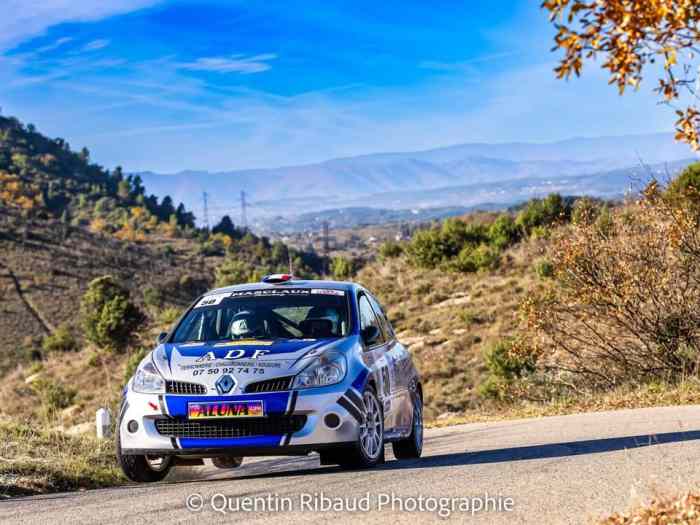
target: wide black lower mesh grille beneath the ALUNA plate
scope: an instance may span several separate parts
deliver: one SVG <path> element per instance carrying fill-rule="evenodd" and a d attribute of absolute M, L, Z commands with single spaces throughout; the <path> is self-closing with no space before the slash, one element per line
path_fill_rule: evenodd
<path fill-rule="evenodd" d="M 177 438 L 239 438 L 282 435 L 301 430 L 306 416 L 278 416 L 264 419 L 189 421 L 158 419 L 156 429 L 164 436 Z"/>

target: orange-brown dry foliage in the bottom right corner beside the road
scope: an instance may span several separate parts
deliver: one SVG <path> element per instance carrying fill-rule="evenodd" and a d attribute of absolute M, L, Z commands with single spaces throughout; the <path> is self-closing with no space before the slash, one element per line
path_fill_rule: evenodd
<path fill-rule="evenodd" d="M 600 525 L 693 525 L 700 524 L 700 492 L 689 491 L 674 497 L 655 498 L 628 512 L 616 513 Z"/>

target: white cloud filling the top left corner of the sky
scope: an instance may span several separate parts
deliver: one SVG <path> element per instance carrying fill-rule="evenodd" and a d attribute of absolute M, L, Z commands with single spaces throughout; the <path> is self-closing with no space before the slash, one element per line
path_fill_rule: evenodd
<path fill-rule="evenodd" d="M 158 3 L 159 0 L 3 0 L 0 51 L 63 22 L 99 20 Z"/>

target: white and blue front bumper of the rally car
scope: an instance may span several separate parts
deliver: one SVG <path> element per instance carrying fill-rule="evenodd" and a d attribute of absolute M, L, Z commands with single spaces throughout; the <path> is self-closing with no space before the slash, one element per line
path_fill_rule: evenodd
<path fill-rule="evenodd" d="M 307 454 L 329 446 L 355 442 L 361 416 L 352 387 L 314 388 L 299 391 L 242 394 L 232 396 L 188 396 L 140 394 L 129 389 L 119 417 L 122 454 L 285 455 Z M 288 433 L 255 433 L 244 437 L 188 437 L 169 435 L 156 428 L 156 421 L 187 421 L 189 402 L 262 400 L 266 417 L 304 416 L 303 426 Z M 337 425 L 329 426 L 326 416 L 335 414 Z M 333 418 L 331 418 L 333 419 Z M 129 430 L 135 421 L 138 428 Z M 207 423 L 220 420 L 207 420 Z M 231 422 L 231 420 L 228 420 Z M 233 423 L 235 424 L 235 423 Z M 133 430 L 132 424 L 132 430 Z"/>

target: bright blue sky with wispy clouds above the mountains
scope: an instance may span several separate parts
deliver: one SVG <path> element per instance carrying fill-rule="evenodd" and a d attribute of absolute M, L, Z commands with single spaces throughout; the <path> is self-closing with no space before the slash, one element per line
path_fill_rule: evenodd
<path fill-rule="evenodd" d="M 556 80 L 533 0 L 7 2 L 3 113 L 107 167 L 229 170 L 672 129 L 652 82 L 619 97 L 592 67 Z"/>

